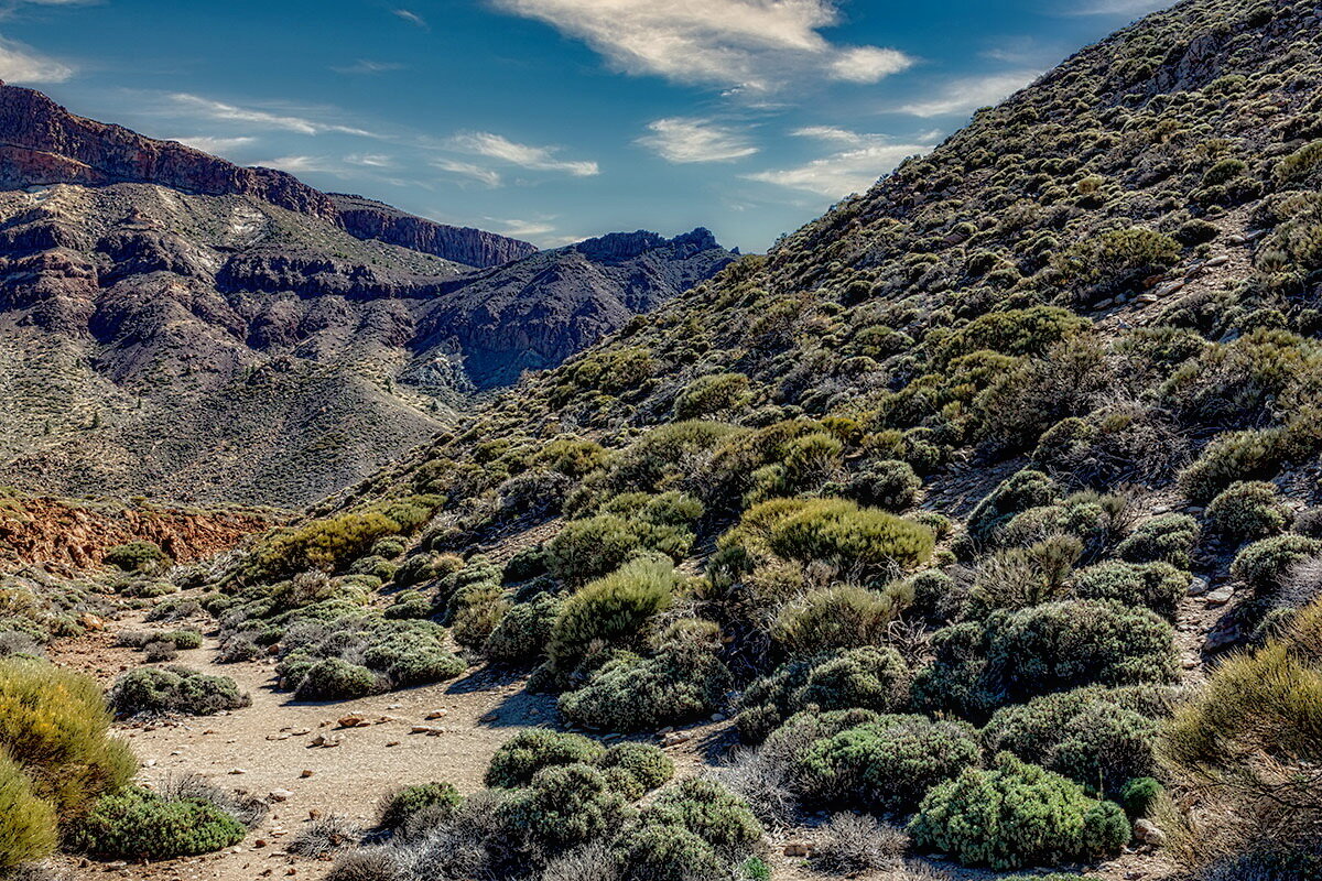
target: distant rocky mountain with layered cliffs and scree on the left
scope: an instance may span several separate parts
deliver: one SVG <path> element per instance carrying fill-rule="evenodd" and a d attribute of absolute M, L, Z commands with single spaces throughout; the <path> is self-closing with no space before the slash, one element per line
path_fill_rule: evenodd
<path fill-rule="evenodd" d="M 0 476 L 58 494 L 307 503 L 731 259 L 529 256 L 15 87 L 0 178 Z"/>

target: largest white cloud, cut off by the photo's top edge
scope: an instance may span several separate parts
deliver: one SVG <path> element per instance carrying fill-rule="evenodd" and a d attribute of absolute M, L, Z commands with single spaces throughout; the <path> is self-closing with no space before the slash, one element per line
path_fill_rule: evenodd
<path fill-rule="evenodd" d="M 804 77 L 873 83 L 912 59 L 894 49 L 841 46 L 820 30 L 837 0 L 490 0 L 587 42 L 631 74 L 769 91 Z"/>

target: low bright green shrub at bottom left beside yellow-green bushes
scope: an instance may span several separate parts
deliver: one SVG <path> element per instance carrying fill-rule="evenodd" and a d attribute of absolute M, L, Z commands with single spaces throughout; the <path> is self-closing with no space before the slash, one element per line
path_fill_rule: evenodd
<path fill-rule="evenodd" d="M 238 844 L 247 829 L 215 804 L 167 799 L 140 786 L 103 795 L 74 826 L 74 848 L 106 857 L 169 860 Z"/>

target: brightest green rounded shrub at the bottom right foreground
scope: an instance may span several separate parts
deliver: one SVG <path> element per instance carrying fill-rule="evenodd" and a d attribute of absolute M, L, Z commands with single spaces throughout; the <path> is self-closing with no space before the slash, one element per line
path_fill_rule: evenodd
<path fill-rule="evenodd" d="M 1017 869 L 1118 853 L 1130 829 L 1117 804 L 1001 753 L 993 767 L 966 769 L 932 789 L 910 835 L 964 865 Z"/>

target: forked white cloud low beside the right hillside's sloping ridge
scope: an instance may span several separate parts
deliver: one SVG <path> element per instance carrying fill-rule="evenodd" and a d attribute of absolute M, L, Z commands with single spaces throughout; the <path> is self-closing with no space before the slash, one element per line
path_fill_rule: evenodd
<path fill-rule="evenodd" d="M 793 133 L 842 144 L 849 149 L 795 168 L 771 169 L 744 177 L 838 199 L 866 190 L 906 157 L 932 149 L 929 144 L 896 144 L 884 135 L 865 135 L 832 125 L 800 128 Z"/>

